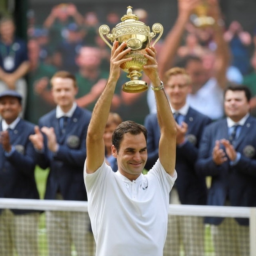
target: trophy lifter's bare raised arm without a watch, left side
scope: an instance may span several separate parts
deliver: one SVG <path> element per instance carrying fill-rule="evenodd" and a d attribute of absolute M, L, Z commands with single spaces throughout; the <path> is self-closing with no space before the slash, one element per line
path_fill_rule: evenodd
<path fill-rule="evenodd" d="M 122 43 L 120 46 L 118 46 L 117 41 L 113 43 L 111 50 L 109 78 L 104 91 L 102 92 L 92 111 L 92 118 L 88 126 L 86 137 L 87 173 L 94 173 L 104 162 L 105 145 L 103 134 L 106 127 L 115 86 L 120 76 L 120 65 L 126 61 L 131 61 L 131 58 L 122 59 L 123 56 L 131 51 L 130 48 L 123 50 L 125 46 L 126 43 Z"/>

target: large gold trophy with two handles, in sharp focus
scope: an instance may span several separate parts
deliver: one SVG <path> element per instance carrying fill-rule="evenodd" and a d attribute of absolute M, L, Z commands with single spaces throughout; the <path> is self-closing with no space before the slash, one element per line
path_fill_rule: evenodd
<path fill-rule="evenodd" d="M 100 37 L 104 42 L 112 49 L 111 44 L 106 40 L 104 35 L 111 41 L 118 41 L 119 45 L 122 42 L 127 43 L 127 47 L 131 48 L 131 51 L 125 55 L 124 58 L 132 57 L 131 61 L 127 61 L 121 64 L 121 69 L 127 72 L 127 77 L 130 81 L 126 82 L 122 86 L 124 92 L 144 92 L 148 89 L 148 84 L 145 81 L 139 80 L 142 76 L 141 71 L 143 66 L 147 64 L 147 58 L 145 58 L 145 49 L 150 47 L 150 41 L 157 33 L 158 37 L 152 44 L 154 44 L 160 39 L 163 33 L 163 26 L 160 23 L 154 23 L 152 26 L 152 32 L 150 32 L 149 26 L 145 25 L 142 21 L 139 21 L 139 17 L 133 14 L 131 6 L 127 7 L 127 14 L 121 18 L 120 23 L 118 23 L 110 34 L 109 27 L 107 25 L 101 25 L 99 28 Z"/>

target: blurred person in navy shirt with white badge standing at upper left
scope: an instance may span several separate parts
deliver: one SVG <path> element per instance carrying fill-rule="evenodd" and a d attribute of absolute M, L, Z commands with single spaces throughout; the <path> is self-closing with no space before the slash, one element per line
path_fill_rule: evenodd
<path fill-rule="evenodd" d="M 15 36 L 14 21 L 10 17 L 0 20 L 0 92 L 11 89 L 22 96 L 23 116 L 27 101 L 27 82 L 24 78 L 29 70 L 27 45 Z"/>

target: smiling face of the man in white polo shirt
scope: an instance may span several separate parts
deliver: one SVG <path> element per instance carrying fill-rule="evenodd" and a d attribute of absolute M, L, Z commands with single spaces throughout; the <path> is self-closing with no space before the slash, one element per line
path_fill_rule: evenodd
<path fill-rule="evenodd" d="M 112 154 L 117 158 L 119 172 L 129 180 L 136 180 L 147 161 L 147 142 L 144 134 L 125 133 L 117 150 L 112 146 Z"/>

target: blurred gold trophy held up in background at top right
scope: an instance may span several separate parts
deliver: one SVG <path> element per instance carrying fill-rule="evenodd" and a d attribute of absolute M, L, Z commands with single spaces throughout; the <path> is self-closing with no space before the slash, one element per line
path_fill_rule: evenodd
<path fill-rule="evenodd" d="M 215 23 L 213 17 L 208 15 L 209 4 L 207 0 L 201 0 L 201 3 L 195 7 L 192 14 L 192 23 L 196 27 L 209 27 Z"/>

